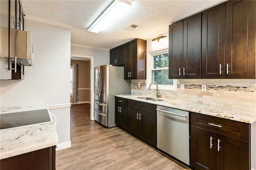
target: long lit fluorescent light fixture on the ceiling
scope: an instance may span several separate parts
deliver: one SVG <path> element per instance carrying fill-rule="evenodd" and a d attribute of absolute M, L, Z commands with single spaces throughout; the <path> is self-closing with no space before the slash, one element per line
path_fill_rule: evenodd
<path fill-rule="evenodd" d="M 114 0 L 112 4 L 97 18 L 88 28 L 88 31 L 98 33 L 102 28 L 106 28 L 115 21 L 116 17 L 124 14 L 128 7 L 132 6 L 130 0 Z"/>

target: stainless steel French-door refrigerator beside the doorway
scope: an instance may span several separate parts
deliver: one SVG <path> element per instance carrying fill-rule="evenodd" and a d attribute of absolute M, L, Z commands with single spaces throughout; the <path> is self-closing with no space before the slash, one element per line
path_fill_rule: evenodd
<path fill-rule="evenodd" d="M 115 97 L 130 93 L 130 80 L 124 80 L 124 67 L 101 65 L 94 68 L 94 118 L 105 127 L 115 127 Z"/>

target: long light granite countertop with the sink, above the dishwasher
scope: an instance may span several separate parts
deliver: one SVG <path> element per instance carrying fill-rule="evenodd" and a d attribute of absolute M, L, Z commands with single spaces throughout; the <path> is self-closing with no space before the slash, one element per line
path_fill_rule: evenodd
<path fill-rule="evenodd" d="M 149 101 L 144 99 L 138 99 L 137 97 L 145 97 L 143 95 L 115 95 L 116 97 L 122 97 L 125 99 L 132 99 L 136 101 L 143 101 L 146 103 L 152 103 L 155 105 L 171 107 L 174 109 L 180 109 L 184 111 L 190 111 L 195 113 L 201 113 L 204 115 L 210 115 L 215 117 L 220 117 L 224 119 L 230 119 L 234 121 L 244 122 L 244 123 L 254 123 L 256 121 L 256 108 L 252 109 L 233 109 L 230 107 L 223 107 L 210 104 L 193 103 L 193 102 L 181 102 L 174 99 L 163 99 L 164 101 Z"/>

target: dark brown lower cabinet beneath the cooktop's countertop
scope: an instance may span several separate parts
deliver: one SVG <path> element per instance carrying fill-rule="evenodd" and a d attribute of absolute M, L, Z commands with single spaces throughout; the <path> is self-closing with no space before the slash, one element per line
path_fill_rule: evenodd
<path fill-rule="evenodd" d="M 55 170 L 55 148 L 51 146 L 0 160 L 1 170 Z"/>

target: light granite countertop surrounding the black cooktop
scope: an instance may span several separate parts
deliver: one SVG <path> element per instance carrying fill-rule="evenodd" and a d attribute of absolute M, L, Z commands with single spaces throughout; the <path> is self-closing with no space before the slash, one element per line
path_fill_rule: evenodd
<path fill-rule="evenodd" d="M 38 109 L 47 109 L 47 105 L 2 107 L 0 113 L 8 114 Z M 53 121 L 2 129 L 0 130 L 0 159 L 48 148 L 56 144 L 58 144 L 58 135 Z"/>

